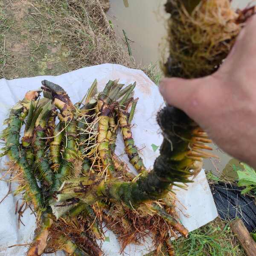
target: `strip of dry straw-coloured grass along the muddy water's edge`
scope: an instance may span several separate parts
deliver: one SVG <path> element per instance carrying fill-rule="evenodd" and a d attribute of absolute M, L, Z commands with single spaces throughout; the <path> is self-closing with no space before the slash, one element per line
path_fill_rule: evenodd
<path fill-rule="evenodd" d="M 129 66 L 129 56 L 117 44 L 99 0 L 42 0 L 50 6 L 51 32 L 68 47 L 69 64 L 76 68 L 115 63 Z"/>

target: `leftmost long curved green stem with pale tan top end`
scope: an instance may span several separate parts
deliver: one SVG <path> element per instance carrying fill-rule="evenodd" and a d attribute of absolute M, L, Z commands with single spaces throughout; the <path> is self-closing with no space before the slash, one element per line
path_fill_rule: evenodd
<path fill-rule="evenodd" d="M 8 127 L 3 131 L 3 139 L 6 141 L 5 152 L 10 159 L 13 160 L 23 173 L 26 180 L 26 193 L 31 198 L 35 209 L 43 206 L 43 199 L 41 190 L 38 187 L 37 181 L 33 175 L 29 163 L 26 159 L 26 153 L 20 147 L 20 128 L 26 118 L 30 102 L 38 98 L 37 91 L 29 91 L 26 93 L 24 99 L 18 102 L 11 110 L 9 119 L 6 121 Z"/>

